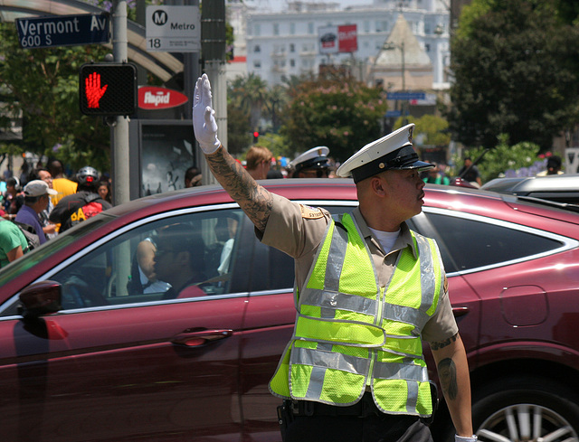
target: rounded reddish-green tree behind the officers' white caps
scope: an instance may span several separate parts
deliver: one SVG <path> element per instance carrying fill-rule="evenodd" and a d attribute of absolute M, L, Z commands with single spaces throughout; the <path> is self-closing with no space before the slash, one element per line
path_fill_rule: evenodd
<path fill-rule="evenodd" d="M 382 135 L 386 111 L 382 90 L 353 79 L 307 80 L 291 91 L 280 134 L 294 152 L 327 146 L 345 161 Z"/>

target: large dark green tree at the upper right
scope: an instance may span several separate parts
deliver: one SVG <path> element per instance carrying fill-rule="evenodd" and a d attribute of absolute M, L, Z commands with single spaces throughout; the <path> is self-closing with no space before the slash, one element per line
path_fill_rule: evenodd
<path fill-rule="evenodd" d="M 555 14 L 564 0 L 473 0 L 451 42 L 451 130 L 467 146 L 551 147 L 579 122 L 579 27 Z M 567 13 L 567 20 L 571 16 Z"/>

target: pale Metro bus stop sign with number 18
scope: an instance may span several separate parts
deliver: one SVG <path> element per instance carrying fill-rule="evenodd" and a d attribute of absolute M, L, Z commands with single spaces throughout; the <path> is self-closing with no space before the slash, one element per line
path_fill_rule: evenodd
<path fill-rule="evenodd" d="M 200 52 L 199 6 L 147 6 L 147 51 Z"/>

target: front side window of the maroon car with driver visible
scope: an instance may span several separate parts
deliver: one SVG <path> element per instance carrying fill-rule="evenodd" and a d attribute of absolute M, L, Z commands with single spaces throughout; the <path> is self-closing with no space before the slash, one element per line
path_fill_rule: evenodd
<path fill-rule="evenodd" d="M 51 277 L 62 309 L 231 293 L 242 211 L 166 217 L 128 230 Z"/>

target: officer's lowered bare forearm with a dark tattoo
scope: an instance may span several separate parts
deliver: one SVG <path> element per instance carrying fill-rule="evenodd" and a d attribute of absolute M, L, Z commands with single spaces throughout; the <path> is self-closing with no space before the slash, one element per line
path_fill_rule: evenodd
<path fill-rule="evenodd" d="M 451 412 L 456 434 L 472 436 L 470 377 L 467 355 L 460 334 L 430 343 L 441 381 L 442 393 Z"/>

